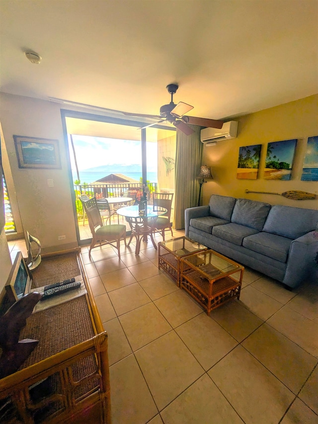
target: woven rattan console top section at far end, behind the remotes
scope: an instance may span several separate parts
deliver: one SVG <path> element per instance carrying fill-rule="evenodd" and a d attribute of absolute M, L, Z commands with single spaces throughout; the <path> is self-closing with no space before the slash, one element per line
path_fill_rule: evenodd
<path fill-rule="evenodd" d="M 40 265 L 32 270 L 32 287 L 42 287 L 80 275 L 76 253 L 43 258 Z"/>

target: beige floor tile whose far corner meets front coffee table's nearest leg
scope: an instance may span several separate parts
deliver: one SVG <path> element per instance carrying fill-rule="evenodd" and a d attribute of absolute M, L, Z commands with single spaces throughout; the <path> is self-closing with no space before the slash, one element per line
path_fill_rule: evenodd
<path fill-rule="evenodd" d="M 175 332 L 206 371 L 238 344 L 204 312 L 176 328 Z"/>

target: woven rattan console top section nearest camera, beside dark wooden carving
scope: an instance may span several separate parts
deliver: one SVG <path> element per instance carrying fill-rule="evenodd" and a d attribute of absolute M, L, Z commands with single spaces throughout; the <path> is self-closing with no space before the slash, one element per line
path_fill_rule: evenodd
<path fill-rule="evenodd" d="M 93 336 L 85 295 L 32 314 L 26 320 L 20 339 L 36 339 L 39 343 L 21 368 Z"/>

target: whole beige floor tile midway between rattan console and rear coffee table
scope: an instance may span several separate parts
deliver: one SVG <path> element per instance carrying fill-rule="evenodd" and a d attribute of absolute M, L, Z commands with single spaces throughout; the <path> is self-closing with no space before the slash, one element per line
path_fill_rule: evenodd
<path fill-rule="evenodd" d="M 121 287 L 108 293 L 117 315 L 126 314 L 133 309 L 151 302 L 145 291 L 138 283 Z"/>

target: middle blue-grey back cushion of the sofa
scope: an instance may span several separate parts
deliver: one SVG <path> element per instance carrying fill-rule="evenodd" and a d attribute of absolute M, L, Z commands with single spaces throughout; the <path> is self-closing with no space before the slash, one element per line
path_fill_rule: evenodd
<path fill-rule="evenodd" d="M 269 203 L 238 199 L 234 206 L 231 222 L 262 230 L 270 208 Z"/>

